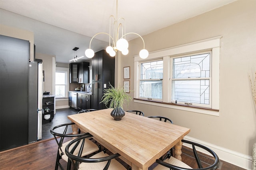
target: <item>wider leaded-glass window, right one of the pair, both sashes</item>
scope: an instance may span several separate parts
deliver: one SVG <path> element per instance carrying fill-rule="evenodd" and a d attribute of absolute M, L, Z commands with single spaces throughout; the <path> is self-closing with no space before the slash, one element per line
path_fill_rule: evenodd
<path fill-rule="evenodd" d="M 171 57 L 172 100 L 175 103 L 210 107 L 211 52 Z"/>

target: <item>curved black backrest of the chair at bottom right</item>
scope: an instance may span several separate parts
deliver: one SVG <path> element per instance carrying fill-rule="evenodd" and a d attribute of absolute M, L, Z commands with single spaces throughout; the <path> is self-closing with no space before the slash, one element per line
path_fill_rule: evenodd
<path fill-rule="evenodd" d="M 194 152 L 194 158 L 196 159 L 196 162 L 198 165 L 198 169 L 194 169 L 194 170 L 200 170 L 200 169 L 216 170 L 220 166 L 220 159 L 219 159 L 218 155 L 213 150 L 211 150 L 208 147 L 205 147 L 204 145 L 201 145 L 199 143 L 194 143 L 194 142 L 186 141 L 186 140 L 182 140 L 182 142 L 192 145 L 193 152 Z M 203 167 L 202 162 L 199 158 L 198 152 L 196 150 L 196 147 L 200 147 L 201 149 L 208 151 L 213 156 L 214 162 L 210 165 L 207 164 L 208 165 L 207 167 Z M 164 160 L 157 159 L 156 162 L 162 166 L 165 166 L 165 167 L 173 169 L 173 170 L 187 170 L 186 168 L 178 167 L 178 166 L 169 164 L 167 162 L 164 162 Z M 178 163 L 178 164 L 180 164 L 180 163 Z"/>

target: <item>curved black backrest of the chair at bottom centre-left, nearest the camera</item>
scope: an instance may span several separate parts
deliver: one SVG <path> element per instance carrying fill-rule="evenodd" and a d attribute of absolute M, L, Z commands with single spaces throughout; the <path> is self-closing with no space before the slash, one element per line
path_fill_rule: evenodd
<path fill-rule="evenodd" d="M 72 162 L 72 164 L 73 164 L 73 166 L 74 166 L 74 168 L 76 170 L 79 169 L 80 162 L 90 162 L 90 163 L 93 163 L 93 162 L 108 161 L 106 163 L 106 166 L 104 167 L 104 170 L 107 170 L 108 167 L 110 166 L 110 161 L 112 159 L 117 158 L 118 156 L 120 156 L 120 154 L 116 153 L 116 154 L 112 154 L 112 155 L 105 156 L 105 157 L 101 156 L 100 158 L 85 158 L 85 157 L 82 157 L 81 153 L 82 153 L 82 150 L 83 150 L 85 139 L 89 138 L 89 137 L 92 137 L 92 135 L 88 133 L 88 134 L 86 134 L 86 135 L 84 135 L 82 137 L 78 137 L 78 138 L 74 139 L 73 141 L 71 141 L 66 146 L 66 149 L 65 149 L 66 155 L 68 156 L 68 158 L 70 158 L 72 160 L 71 162 Z M 78 155 L 74 155 L 73 154 L 74 150 L 76 150 L 76 148 L 79 146 L 80 143 L 82 145 L 80 145 L 80 149 L 79 149 Z"/>

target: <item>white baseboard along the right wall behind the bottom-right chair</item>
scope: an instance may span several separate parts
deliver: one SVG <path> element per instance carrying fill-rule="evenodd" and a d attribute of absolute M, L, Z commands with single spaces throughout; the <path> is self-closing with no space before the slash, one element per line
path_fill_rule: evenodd
<path fill-rule="evenodd" d="M 244 168 L 246 170 L 251 170 L 252 169 L 252 156 L 248 156 L 245 154 L 241 154 L 238 152 L 234 152 L 232 150 L 228 150 L 222 147 L 218 147 L 216 145 L 212 145 L 210 143 L 206 143 L 204 141 L 200 141 L 198 139 L 192 138 L 185 136 L 184 140 L 192 141 L 195 143 L 199 143 L 201 145 L 204 145 L 210 149 L 212 149 L 220 158 L 220 160 L 223 160 L 225 162 L 228 162 L 230 164 L 239 166 L 241 168 Z M 183 144 L 186 147 L 191 148 L 191 145 L 184 143 Z M 208 154 L 207 152 L 204 152 L 204 150 L 198 149 L 199 152 L 203 152 L 205 154 Z"/>

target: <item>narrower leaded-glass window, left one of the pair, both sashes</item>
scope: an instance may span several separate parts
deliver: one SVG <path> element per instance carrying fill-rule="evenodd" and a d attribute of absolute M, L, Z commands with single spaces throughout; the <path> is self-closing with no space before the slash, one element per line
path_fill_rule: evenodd
<path fill-rule="evenodd" d="M 162 99 L 163 61 L 140 64 L 140 97 Z"/>

